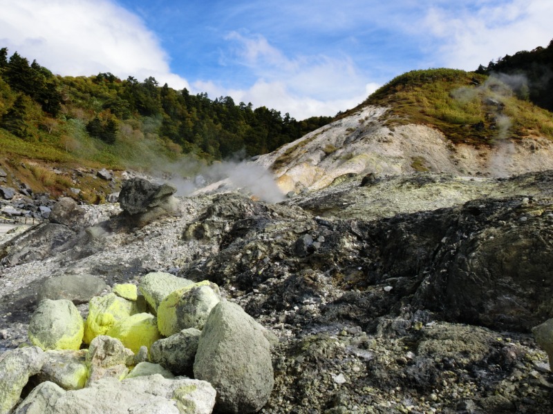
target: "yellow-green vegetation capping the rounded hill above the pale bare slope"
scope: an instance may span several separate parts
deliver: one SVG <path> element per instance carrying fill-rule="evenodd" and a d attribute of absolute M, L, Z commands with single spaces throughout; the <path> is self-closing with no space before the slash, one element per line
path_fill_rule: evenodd
<path fill-rule="evenodd" d="M 455 144 L 491 145 L 497 139 L 527 136 L 553 139 L 552 114 L 523 98 L 497 77 L 440 68 L 400 75 L 354 110 L 389 106 L 391 128 L 424 124 Z"/>

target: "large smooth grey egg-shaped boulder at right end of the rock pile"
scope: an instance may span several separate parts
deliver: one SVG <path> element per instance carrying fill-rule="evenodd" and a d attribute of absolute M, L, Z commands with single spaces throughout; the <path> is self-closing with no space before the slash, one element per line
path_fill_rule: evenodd
<path fill-rule="evenodd" d="M 231 302 L 219 302 L 207 318 L 194 361 L 194 377 L 217 390 L 218 411 L 254 413 L 273 385 L 265 328 Z"/>

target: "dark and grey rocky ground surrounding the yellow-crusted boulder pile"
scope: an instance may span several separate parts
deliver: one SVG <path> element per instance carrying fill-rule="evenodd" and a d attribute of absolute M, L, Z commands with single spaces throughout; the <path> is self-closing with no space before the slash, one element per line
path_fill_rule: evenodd
<path fill-rule="evenodd" d="M 0 240 L 0 352 L 44 279 L 209 279 L 277 335 L 263 413 L 550 413 L 530 329 L 553 317 L 553 172 L 346 175 L 279 204 L 178 199 L 131 222 L 83 206 Z M 86 315 L 86 304 L 79 310 Z"/>

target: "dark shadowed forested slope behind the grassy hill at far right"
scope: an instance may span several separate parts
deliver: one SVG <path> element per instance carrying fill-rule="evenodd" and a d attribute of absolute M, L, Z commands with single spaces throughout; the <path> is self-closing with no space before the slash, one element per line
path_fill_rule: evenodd
<path fill-rule="evenodd" d="M 509 75 L 509 83 L 527 92 L 529 100 L 537 106 L 553 112 L 553 40 L 547 48 L 521 50 L 505 55 L 488 66 L 480 65 L 477 73 Z"/>

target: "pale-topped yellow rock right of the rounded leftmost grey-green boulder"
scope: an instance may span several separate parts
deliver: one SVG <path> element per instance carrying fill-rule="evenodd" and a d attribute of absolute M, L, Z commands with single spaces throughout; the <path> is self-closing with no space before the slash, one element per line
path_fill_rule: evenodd
<path fill-rule="evenodd" d="M 84 343 L 90 344 L 98 335 L 106 335 L 115 322 L 126 319 L 137 311 L 135 302 L 119 297 L 115 293 L 93 297 L 88 304 L 88 317 L 84 324 Z"/>

